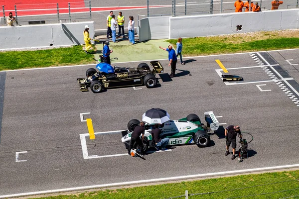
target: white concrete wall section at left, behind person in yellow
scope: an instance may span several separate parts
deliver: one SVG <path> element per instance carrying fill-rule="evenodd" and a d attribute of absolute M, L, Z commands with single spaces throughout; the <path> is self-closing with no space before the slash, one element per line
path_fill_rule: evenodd
<path fill-rule="evenodd" d="M 94 22 L 73 22 L 0 27 L 0 50 L 46 48 L 84 44 L 84 26 L 94 37 Z"/>

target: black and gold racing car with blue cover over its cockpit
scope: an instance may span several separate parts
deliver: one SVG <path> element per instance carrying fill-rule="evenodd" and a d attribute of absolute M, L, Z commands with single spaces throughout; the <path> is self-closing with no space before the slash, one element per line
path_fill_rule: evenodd
<path fill-rule="evenodd" d="M 157 84 L 156 73 L 163 73 L 163 67 L 159 61 L 151 61 L 150 70 L 147 63 L 141 63 L 137 68 L 112 67 L 108 70 L 98 67 L 99 72 L 90 68 L 86 71 L 86 79 L 78 78 L 80 91 L 86 92 L 88 88 L 93 93 L 100 93 L 103 89 L 135 87 L 145 85 L 147 88 L 154 88 Z M 103 67 L 104 68 L 104 67 Z"/>

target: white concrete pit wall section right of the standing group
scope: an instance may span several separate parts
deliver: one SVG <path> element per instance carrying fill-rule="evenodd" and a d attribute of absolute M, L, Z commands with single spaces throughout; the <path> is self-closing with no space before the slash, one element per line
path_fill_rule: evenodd
<path fill-rule="evenodd" d="M 138 28 L 140 41 L 146 41 L 233 34 L 237 25 L 242 25 L 241 32 L 299 28 L 299 9 L 150 17 L 140 19 Z"/>

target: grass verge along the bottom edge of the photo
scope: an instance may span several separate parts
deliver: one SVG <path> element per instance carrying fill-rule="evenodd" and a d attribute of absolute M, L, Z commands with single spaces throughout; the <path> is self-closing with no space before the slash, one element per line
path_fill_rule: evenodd
<path fill-rule="evenodd" d="M 40 199 L 165 199 L 182 196 L 185 194 L 185 190 L 188 190 L 189 194 L 193 194 L 193 196 L 189 196 L 189 199 L 279 199 L 287 197 L 295 199 L 299 198 L 299 170 L 104 190 Z"/>

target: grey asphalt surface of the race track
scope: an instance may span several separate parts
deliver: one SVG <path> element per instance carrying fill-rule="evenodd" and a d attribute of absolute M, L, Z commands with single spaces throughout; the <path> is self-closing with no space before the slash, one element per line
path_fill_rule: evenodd
<path fill-rule="evenodd" d="M 100 94 L 81 93 L 76 81 L 95 65 L 1 72 L 5 84 L 0 132 L 0 198 L 298 164 L 299 106 L 295 103 L 299 99 L 299 65 L 295 65 L 299 64 L 298 55 L 299 49 L 294 49 L 251 56 L 243 53 L 186 58 L 186 65 L 177 64 L 177 77 L 172 79 L 167 78 L 168 61 L 160 60 L 165 68 L 162 77 L 166 78 L 159 79 L 157 88 L 111 89 Z M 227 68 L 228 74 L 242 76 L 244 81 L 225 85 L 217 74 L 223 71 L 216 59 Z M 136 67 L 139 63 L 116 65 Z M 268 71 L 261 67 L 263 63 L 271 65 L 266 66 Z M 274 77 L 284 80 L 277 84 Z M 262 91 L 257 85 L 263 85 L 259 86 Z M 176 146 L 171 151 L 148 154 L 146 160 L 125 155 L 83 158 L 80 134 L 88 130 L 86 122 L 80 120 L 80 113 L 90 112 L 84 119 L 92 118 L 95 132 L 117 131 L 126 129 L 130 119 L 141 119 L 152 107 L 167 110 L 172 119 L 196 113 L 203 123 L 203 113 L 214 111 L 216 116 L 222 116 L 218 117 L 219 122 L 226 123 L 223 128 L 240 125 L 242 131 L 254 136 L 249 144 L 251 157 L 238 163 L 237 158 L 231 160 L 231 155 L 224 156 L 225 140 L 220 129 L 211 132 L 212 145 L 207 148 L 194 144 Z M 96 134 L 96 140 L 90 141 L 85 136 L 88 155 L 127 153 L 121 137 L 120 133 Z M 245 138 L 250 140 L 247 135 Z M 16 161 L 16 152 L 22 152 L 17 159 L 22 162 Z"/>

